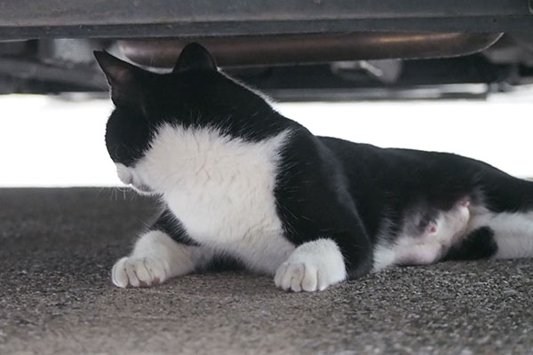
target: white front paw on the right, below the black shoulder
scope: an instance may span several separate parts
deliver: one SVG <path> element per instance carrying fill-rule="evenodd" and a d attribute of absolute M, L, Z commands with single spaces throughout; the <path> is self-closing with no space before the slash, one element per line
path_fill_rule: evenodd
<path fill-rule="evenodd" d="M 310 241 L 278 267 L 274 283 L 285 291 L 322 291 L 346 279 L 344 259 L 334 241 Z"/>

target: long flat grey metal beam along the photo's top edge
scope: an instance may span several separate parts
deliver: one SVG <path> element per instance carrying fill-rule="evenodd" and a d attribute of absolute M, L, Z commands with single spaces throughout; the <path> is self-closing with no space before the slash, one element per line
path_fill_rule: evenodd
<path fill-rule="evenodd" d="M 0 40 L 533 30 L 530 0 L 18 0 L 0 13 Z"/>

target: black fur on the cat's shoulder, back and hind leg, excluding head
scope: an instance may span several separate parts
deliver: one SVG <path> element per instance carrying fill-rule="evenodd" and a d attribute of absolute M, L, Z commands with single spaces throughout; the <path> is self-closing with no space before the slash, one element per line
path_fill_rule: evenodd
<path fill-rule="evenodd" d="M 448 211 L 468 197 L 494 212 L 529 210 L 533 184 L 455 154 L 383 149 L 300 129 L 283 154 L 276 195 L 288 238 L 299 244 L 330 235 L 349 260 L 351 276 L 368 272 L 379 227 L 395 232 L 413 209 Z M 394 233 L 392 234 L 394 237 Z M 454 258 L 488 257 L 497 247 L 485 229 Z M 483 245 L 486 242 L 487 245 Z M 461 256 L 461 257 L 459 257 Z"/>

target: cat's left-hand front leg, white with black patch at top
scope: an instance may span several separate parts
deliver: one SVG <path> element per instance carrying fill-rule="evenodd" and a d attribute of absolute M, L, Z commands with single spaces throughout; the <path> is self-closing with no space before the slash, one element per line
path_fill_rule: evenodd
<path fill-rule="evenodd" d="M 172 222 L 163 213 L 152 230 L 135 243 L 130 256 L 115 263 L 111 274 L 116 286 L 155 286 L 210 263 L 212 250 L 188 241 L 179 225 Z"/>

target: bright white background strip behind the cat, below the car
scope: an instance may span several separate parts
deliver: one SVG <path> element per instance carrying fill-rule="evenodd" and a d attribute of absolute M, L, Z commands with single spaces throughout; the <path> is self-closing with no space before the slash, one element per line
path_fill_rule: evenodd
<path fill-rule="evenodd" d="M 104 132 L 109 100 L 0 97 L 0 187 L 120 185 Z M 470 156 L 533 177 L 533 88 L 488 101 L 282 104 L 314 134 Z"/>

